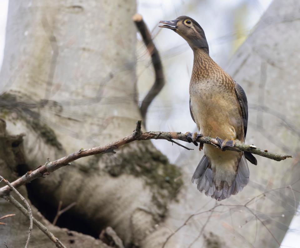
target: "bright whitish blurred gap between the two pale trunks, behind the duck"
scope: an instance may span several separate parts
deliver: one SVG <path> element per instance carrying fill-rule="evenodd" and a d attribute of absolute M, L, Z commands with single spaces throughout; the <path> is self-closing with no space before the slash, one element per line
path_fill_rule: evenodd
<path fill-rule="evenodd" d="M 210 56 L 223 69 L 228 61 L 245 41 L 252 28 L 258 22 L 271 1 L 139 1 L 138 13 L 143 18 L 155 37 L 155 43 L 161 54 L 166 76 L 166 86 L 148 111 L 147 129 L 178 130 L 195 129 L 190 118 L 188 85 L 193 66 L 193 53 L 187 42 L 175 32 L 165 32 L 158 28 L 158 20 L 173 20 L 180 15 L 187 15 L 200 23 L 205 31 Z M 148 53 L 138 35 L 138 90 L 142 101 L 150 89 L 153 79 Z M 180 113 L 180 114 L 179 114 Z M 192 132 L 191 131 L 191 132 Z M 171 162 L 175 162 L 174 149 L 166 147 L 165 142 L 155 145 Z"/>

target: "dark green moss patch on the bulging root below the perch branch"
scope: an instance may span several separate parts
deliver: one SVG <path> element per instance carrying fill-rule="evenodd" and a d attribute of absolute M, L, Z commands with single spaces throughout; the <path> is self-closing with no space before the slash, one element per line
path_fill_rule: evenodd
<path fill-rule="evenodd" d="M 124 173 L 143 177 L 153 193 L 152 200 L 163 215 L 170 200 L 177 200 L 183 185 L 180 168 L 169 163 L 168 158 L 151 142 L 132 143 L 106 159 L 104 170 L 113 177 Z"/>

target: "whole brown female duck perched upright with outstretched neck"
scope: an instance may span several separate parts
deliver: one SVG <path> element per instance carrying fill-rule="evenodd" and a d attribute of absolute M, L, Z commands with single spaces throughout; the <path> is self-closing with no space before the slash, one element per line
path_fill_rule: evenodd
<path fill-rule="evenodd" d="M 160 21 L 187 41 L 194 52 L 190 80 L 190 112 L 201 134 L 188 132 L 195 142 L 200 135 L 217 137 L 221 149 L 244 143 L 247 122 L 247 97 L 242 87 L 209 56 L 208 44 L 201 26 L 192 18 L 180 16 L 172 21 Z M 248 152 L 222 151 L 203 145 L 204 156 L 192 176 L 200 192 L 221 201 L 242 191 L 249 182 L 246 158 L 257 164 Z"/>

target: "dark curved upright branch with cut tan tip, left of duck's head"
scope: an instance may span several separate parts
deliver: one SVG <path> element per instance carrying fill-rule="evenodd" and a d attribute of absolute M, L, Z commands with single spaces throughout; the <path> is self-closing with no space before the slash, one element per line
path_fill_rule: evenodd
<path fill-rule="evenodd" d="M 143 17 L 136 13 L 133 15 L 133 21 L 138 28 L 141 36 L 143 37 L 143 42 L 147 47 L 149 54 L 151 55 L 152 65 L 155 73 L 155 81 L 152 85 L 151 89 L 149 90 L 148 94 L 145 96 L 144 100 L 142 101 L 140 110 L 142 114 L 142 118 L 146 120 L 146 114 L 149 105 L 153 101 L 153 99 L 158 95 L 158 93 L 162 90 L 163 86 L 165 85 L 165 76 L 163 74 L 163 65 L 162 61 L 159 56 L 158 49 L 156 48 L 153 39 L 151 37 L 151 33 L 143 20 Z"/>

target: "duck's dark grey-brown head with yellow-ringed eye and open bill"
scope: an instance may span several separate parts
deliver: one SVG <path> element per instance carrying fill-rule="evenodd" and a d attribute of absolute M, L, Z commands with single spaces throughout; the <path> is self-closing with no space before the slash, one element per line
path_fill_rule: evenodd
<path fill-rule="evenodd" d="M 180 16 L 172 21 L 160 21 L 161 28 L 169 28 L 179 34 L 194 49 L 203 49 L 209 52 L 207 40 L 201 26 L 188 16 Z"/>

